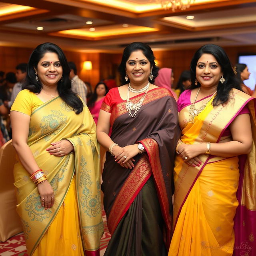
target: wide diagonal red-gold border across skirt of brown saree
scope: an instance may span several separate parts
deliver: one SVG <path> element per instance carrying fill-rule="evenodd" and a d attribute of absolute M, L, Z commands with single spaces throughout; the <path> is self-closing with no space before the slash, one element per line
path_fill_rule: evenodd
<path fill-rule="evenodd" d="M 107 220 L 110 234 L 114 233 L 118 223 L 123 218 L 144 184 L 150 178 L 151 174 L 152 170 L 148 157 L 144 154 L 132 169 L 130 175 L 116 196 Z"/>

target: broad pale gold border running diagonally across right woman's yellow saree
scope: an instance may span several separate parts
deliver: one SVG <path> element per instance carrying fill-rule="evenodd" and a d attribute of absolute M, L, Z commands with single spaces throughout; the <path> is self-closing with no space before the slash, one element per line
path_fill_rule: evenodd
<path fill-rule="evenodd" d="M 212 104 L 206 106 L 204 111 L 211 108 L 210 113 L 204 120 L 200 120 L 200 116 L 203 115 L 202 111 L 197 116 L 197 122 L 203 122 L 200 134 L 197 138 L 194 138 L 194 143 L 212 142 L 217 143 L 224 132 L 224 129 L 230 124 L 230 122 L 236 117 L 236 114 L 242 107 L 253 98 L 241 92 L 237 89 L 233 89 L 230 93 L 231 97 L 228 103 L 223 106 L 217 106 L 213 108 Z M 235 98 L 236 97 L 236 98 Z M 212 99 L 213 100 L 213 99 Z M 210 100 L 210 103 L 212 102 Z M 183 110 L 188 111 L 189 106 L 186 106 Z M 182 110 L 181 110 L 182 111 Z M 180 112 L 181 112 L 180 111 Z M 182 140 L 182 138 L 181 138 Z M 184 141 L 186 143 L 186 141 Z M 178 221 L 178 216 L 182 209 L 186 198 L 196 182 L 198 176 L 204 169 L 204 166 L 208 163 L 211 156 L 206 154 L 200 155 L 202 161 L 202 167 L 192 167 L 184 163 L 184 160 L 180 156 L 176 156 L 176 164 L 181 164 L 181 170 L 178 174 L 178 179 L 175 181 L 175 192 L 174 192 L 174 229 Z M 220 159 L 221 157 L 218 157 Z M 225 159 L 225 158 L 223 158 Z"/>

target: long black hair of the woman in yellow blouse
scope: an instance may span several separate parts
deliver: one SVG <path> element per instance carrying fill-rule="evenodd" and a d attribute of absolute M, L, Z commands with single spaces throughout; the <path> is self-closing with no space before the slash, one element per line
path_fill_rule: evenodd
<path fill-rule="evenodd" d="M 39 93 L 42 90 L 42 84 L 39 81 L 36 81 L 35 69 L 37 70 L 38 62 L 43 58 L 44 54 L 47 52 L 55 52 L 58 55 L 60 64 L 62 66 L 63 74 L 62 81 L 58 81 L 57 90 L 60 98 L 68 104 L 76 114 L 79 114 L 83 110 L 83 102 L 77 96 L 76 93 L 71 90 L 71 81 L 69 79 L 70 68 L 66 56 L 59 46 L 52 43 L 40 44 L 30 55 L 28 66 L 27 66 L 27 75 L 24 84 L 22 84 L 22 89 L 28 89 L 31 92 Z"/>

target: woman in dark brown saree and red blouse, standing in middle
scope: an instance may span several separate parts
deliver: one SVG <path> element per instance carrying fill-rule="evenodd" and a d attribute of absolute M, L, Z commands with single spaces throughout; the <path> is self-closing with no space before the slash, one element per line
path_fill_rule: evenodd
<path fill-rule="evenodd" d="M 105 255 L 167 255 L 180 136 L 176 102 L 167 89 L 150 83 L 158 68 L 148 45 L 128 45 L 119 72 L 124 85 L 106 95 L 96 130 L 109 150 L 102 191 L 112 238 Z"/>

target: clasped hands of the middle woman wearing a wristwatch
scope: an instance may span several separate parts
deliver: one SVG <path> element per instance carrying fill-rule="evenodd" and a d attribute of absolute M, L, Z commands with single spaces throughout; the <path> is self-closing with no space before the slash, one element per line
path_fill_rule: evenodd
<path fill-rule="evenodd" d="M 128 169 L 134 168 L 133 162 L 134 156 L 136 156 L 140 150 L 138 149 L 138 144 L 128 145 L 124 148 L 121 148 L 120 146 L 116 145 L 112 149 L 112 154 L 115 157 L 115 161 L 120 164 L 120 166 Z"/>

